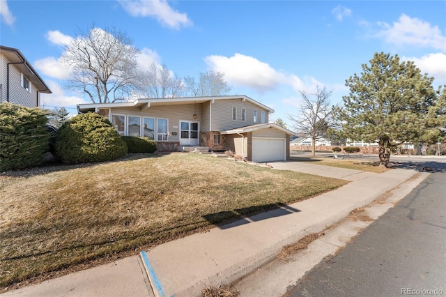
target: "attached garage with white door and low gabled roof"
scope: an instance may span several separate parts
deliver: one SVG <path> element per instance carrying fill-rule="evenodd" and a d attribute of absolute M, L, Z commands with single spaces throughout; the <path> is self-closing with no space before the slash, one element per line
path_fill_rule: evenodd
<path fill-rule="evenodd" d="M 289 139 L 294 133 L 275 123 L 250 125 L 220 132 L 226 148 L 253 162 L 289 160 Z"/>

